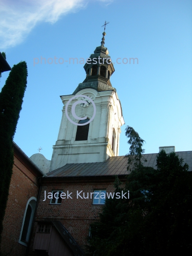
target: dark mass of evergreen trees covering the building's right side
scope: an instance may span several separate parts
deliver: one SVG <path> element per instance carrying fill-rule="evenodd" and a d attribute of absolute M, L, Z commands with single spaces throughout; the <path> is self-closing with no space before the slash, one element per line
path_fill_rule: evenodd
<path fill-rule="evenodd" d="M 135 152 L 143 152 L 135 146 L 141 147 L 141 140 L 131 143 Z M 91 224 L 88 255 L 191 255 L 192 173 L 187 172 L 188 165 L 174 152 L 165 151 L 157 155 L 156 170 L 144 167 L 141 157 L 132 163 L 135 169 L 125 186 L 115 182 L 116 192 L 129 191 L 129 200 L 106 199 L 100 222 Z"/>

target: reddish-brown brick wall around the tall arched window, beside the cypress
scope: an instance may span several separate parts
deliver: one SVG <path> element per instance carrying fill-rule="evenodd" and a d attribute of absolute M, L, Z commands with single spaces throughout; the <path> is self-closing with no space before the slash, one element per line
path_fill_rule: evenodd
<path fill-rule="evenodd" d="M 26 204 L 38 194 L 37 175 L 34 167 L 14 154 L 13 174 L 9 187 L 9 198 L 3 220 L 2 255 L 25 256 L 26 246 L 18 243 Z"/>

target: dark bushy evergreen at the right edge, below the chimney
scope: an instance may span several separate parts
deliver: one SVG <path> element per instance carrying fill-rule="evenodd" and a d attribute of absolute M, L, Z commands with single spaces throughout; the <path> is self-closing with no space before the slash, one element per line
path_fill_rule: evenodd
<path fill-rule="evenodd" d="M 143 234 L 147 256 L 192 254 L 192 172 L 173 152 L 157 156 L 157 183 Z"/>

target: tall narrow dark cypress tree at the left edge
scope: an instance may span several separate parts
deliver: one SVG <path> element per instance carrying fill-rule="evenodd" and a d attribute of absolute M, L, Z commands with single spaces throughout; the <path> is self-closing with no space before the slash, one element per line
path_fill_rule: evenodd
<path fill-rule="evenodd" d="M 13 66 L 0 92 L 0 236 L 13 168 L 12 140 L 26 86 L 27 64 L 20 62 Z"/>

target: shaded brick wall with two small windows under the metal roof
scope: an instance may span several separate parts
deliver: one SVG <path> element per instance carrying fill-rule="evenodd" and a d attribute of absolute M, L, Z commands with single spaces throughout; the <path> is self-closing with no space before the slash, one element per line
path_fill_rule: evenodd
<path fill-rule="evenodd" d="M 93 205 L 90 198 L 90 192 L 94 190 L 103 190 L 113 192 L 114 177 L 77 177 L 77 178 L 44 178 L 42 189 L 38 203 L 37 221 L 59 220 L 64 227 L 71 233 L 77 243 L 83 248 L 86 245 L 86 237 L 89 235 L 89 227 L 91 222 L 99 220 L 99 213 L 102 210 L 102 205 Z M 73 199 L 62 199 L 60 205 L 50 204 L 50 199 L 45 198 L 48 192 L 60 190 L 67 194 L 72 192 Z M 77 199 L 77 191 L 83 191 L 85 197 L 89 193 L 89 199 Z M 81 193 L 83 197 L 83 192 Z M 93 195 L 92 195 L 93 197 Z M 34 240 L 35 232 L 33 234 Z M 31 248 L 33 244 L 31 244 Z"/>

